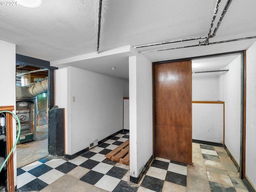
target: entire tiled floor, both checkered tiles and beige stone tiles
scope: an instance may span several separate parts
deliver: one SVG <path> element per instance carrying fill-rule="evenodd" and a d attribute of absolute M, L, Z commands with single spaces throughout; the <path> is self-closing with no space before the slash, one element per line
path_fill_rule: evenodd
<path fill-rule="evenodd" d="M 193 143 L 193 166 L 156 158 L 138 184 L 129 166 L 105 154 L 129 138 L 123 132 L 68 160 L 43 158 L 17 170 L 19 192 L 247 192 L 224 148 Z"/>

